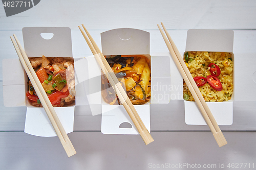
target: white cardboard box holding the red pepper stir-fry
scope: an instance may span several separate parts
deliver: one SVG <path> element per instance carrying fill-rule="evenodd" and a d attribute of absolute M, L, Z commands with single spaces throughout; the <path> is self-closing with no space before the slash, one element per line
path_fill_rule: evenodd
<path fill-rule="evenodd" d="M 25 52 L 29 58 L 42 55 L 73 58 L 70 28 L 23 28 L 23 39 Z M 9 68 L 12 68 L 12 71 L 9 71 Z M 75 71 L 77 69 L 79 68 Z M 44 108 L 30 105 L 26 97 L 28 76 L 18 58 L 3 60 L 3 89 L 6 107 L 27 107 L 24 130 L 26 133 L 44 137 L 57 136 Z M 75 86 L 75 89 L 76 94 L 83 93 L 82 88 Z M 75 105 L 84 104 L 79 97 L 76 97 L 75 103 L 67 107 L 54 108 L 66 133 L 73 132 Z"/>

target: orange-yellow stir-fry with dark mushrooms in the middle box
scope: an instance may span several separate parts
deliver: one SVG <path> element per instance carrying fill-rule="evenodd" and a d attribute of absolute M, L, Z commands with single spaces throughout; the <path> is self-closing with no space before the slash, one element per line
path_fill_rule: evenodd
<path fill-rule="evenodd" d="M 141 105 L 151 98 L 151 68 L 150 60 L 142 55 L 110 56 L 106 60 L 112 67 L 119 82 L 126 89 L 133 105 Z M 103 100 L 111 105 L 120 104 L 118 97 L 108 79 L 102 77 L 101 91 Z"/>

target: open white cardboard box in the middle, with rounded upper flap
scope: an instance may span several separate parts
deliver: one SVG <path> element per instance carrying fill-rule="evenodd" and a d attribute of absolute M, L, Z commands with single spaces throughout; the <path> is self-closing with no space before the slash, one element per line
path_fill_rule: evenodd
<path fill-rule="evenodd" d="M 101 46 L 104 56 L 145 55 L 151 61 L 151 100 L 143 105 L 134 105 L 147 130 L 150 131 L 150 106 L 167 104 L 173 96 L 180 96 L 178 90 L 170 89 L 170 70 L 173 63 L 169 55 L 150 54 L 150 33 L 130 28 L 114 29 L 101 33 Z M 131 118 L 122 105 L 109 105 L 101 98 L 100 69 L 94 57 L 87 57 L 91 90 L 89 103 L 94 115 L 102 113 L 101 132 L 103 134 L 138 134 Z M 161 69 L 159 69 L 161 68 Z M 179 77 L 179 74 L 178 74 Z M 96 80 L 97 79 L 97 80 Z M 174 77 L 174 80 L 176 78 Z M 94 85 L 94 86 L 92 86 Z M 180 84 L 183 87 L 183 84 Z M 97 90 L 96 90 L 96 89 Z M 97 91 L 92 93 L 93 91 Z M 178 97 L 177 97 L 178 99 Z M 160 114 L 160 113 L 159 113 Z M 126 126 L 122 127 L 122 125 Z M 121 126 L 120 126 L 121 125 Z"/>

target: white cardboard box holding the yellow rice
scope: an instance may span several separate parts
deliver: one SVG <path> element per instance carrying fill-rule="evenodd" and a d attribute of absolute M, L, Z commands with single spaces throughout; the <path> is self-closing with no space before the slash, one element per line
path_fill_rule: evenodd
<path fill-rule="evenodd" d="M 233 61 L 233 93 L 231 100 L 224 102 L 206 102 L 218 125 L 232 125 L 234 87 L 241 82 L 234 82 L 234 65 L 236 59 L 233 54 L 232 30 L 188 30 L 186 52 L 228 52 Z M 185 101 L 185 122 L 187 125 L 206 125 L 206 122 L 197 107 L 196 102 Z"/>

